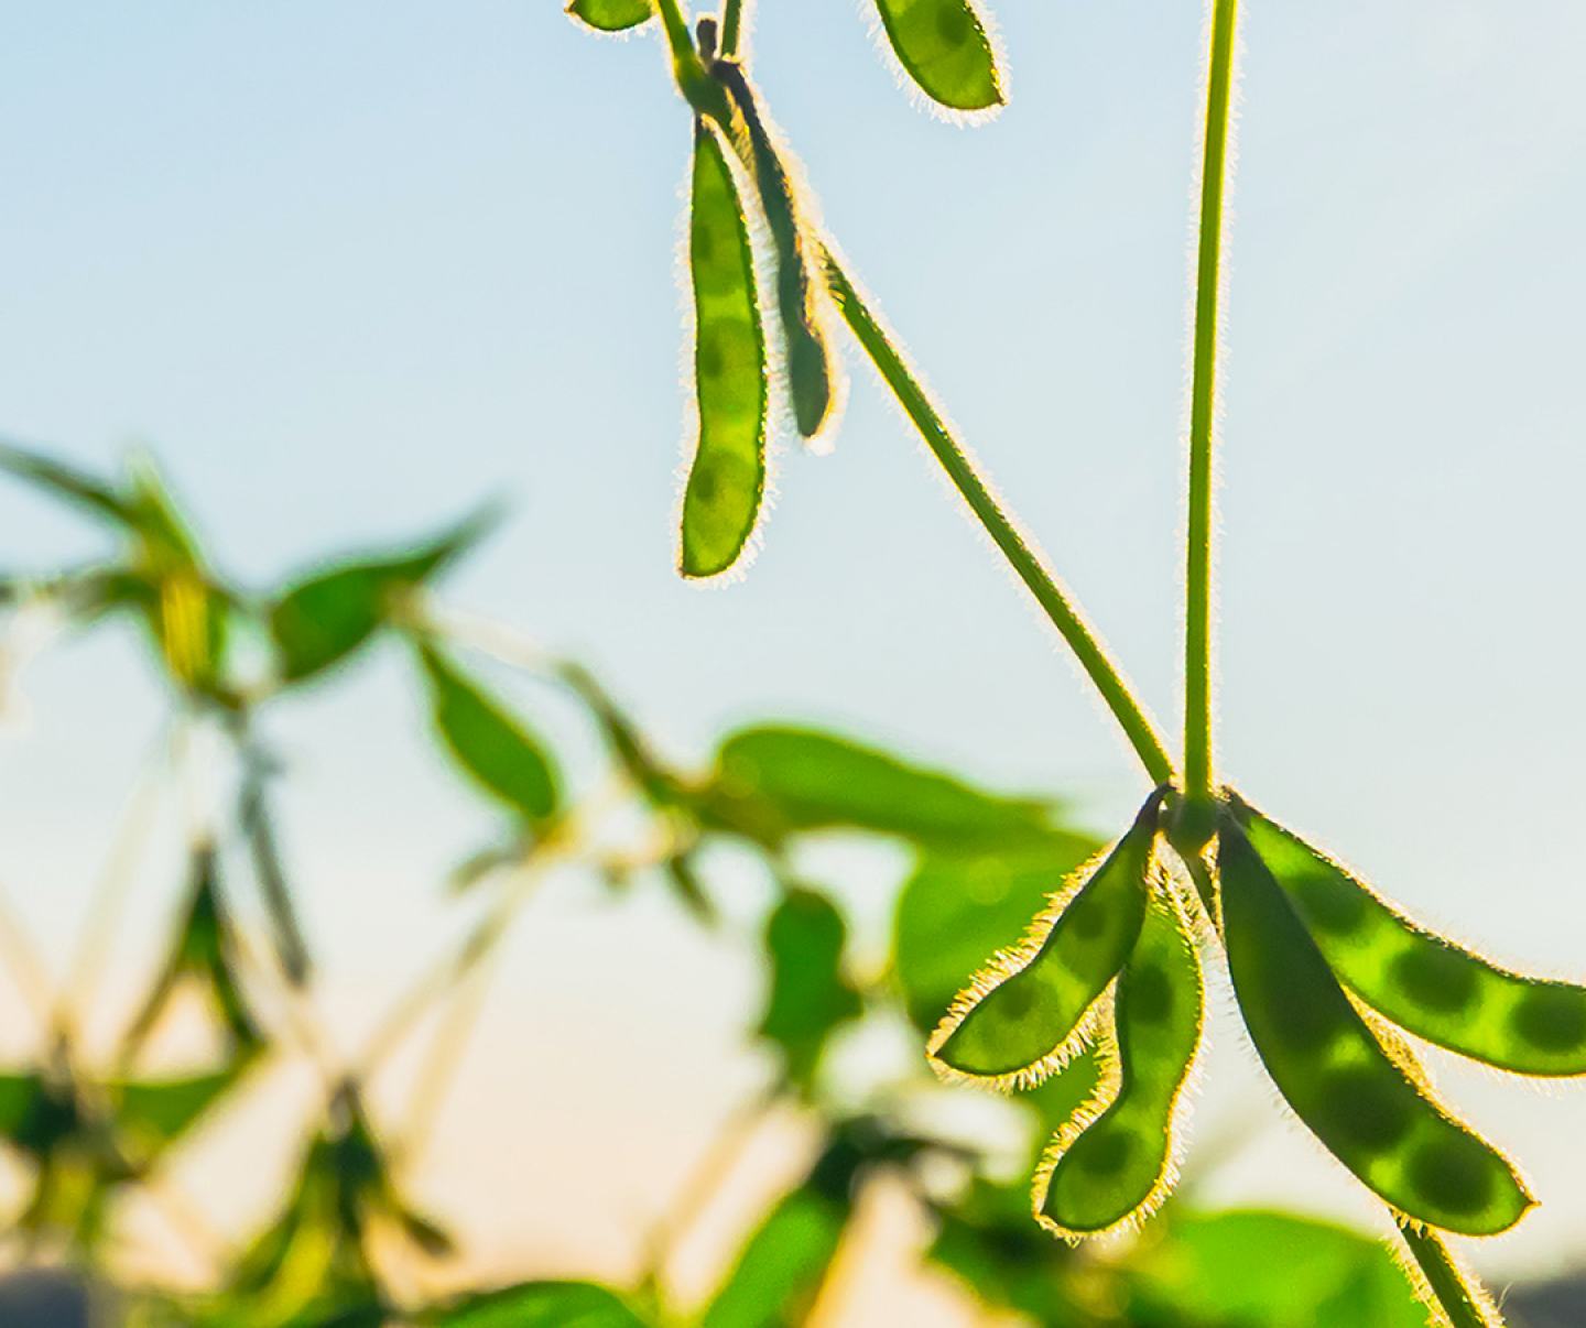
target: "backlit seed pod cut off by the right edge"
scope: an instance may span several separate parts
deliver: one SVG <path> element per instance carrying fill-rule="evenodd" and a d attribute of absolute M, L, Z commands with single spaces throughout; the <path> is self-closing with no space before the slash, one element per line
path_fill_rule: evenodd
<path fill-rule="evenodd" d="M 1586 1074 L 1586 987 L 1526 978 L 1416 925 L 1243 803 L 1256 853 L 1345 986 L 1429 1043 L 1519 1074 Z"/>

